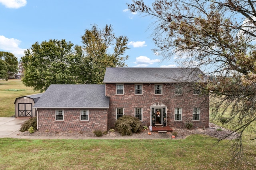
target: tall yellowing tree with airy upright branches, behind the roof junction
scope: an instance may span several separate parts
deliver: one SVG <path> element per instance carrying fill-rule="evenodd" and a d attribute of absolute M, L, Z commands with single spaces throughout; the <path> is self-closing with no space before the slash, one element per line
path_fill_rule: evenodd
<path fill-rule="evenodd" d="M 106 25 L 104 29 L 99 30 L 97 25 L 92 25 L 91 30 L 86 29 L 82 36 L 86 59 L 90 63 L 90 74 L 87 76 L 86 83 L 102 84 L 106 67 L 124 67 L 124 60 L 128 55 L 123 56 L 127 47 L 128 38 L 126 36 L 116 37 L 112 26 Z M 108 49 L 112 49 L 112 53 Z"/>

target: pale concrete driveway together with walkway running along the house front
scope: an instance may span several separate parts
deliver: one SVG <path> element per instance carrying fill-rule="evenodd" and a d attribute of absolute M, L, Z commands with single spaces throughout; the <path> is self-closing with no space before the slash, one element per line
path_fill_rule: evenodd
<path fill-rule="evenodd" d="M 0 117 L 0 138 L 20 139 L 170 139 L 167 134 L 156 134 L 141 137 L 117 136 L 117 137 L 88 137 L 88 136 L 21 136 L 19 130 L 28 119 L 15 119 L 14 117 Z"/>

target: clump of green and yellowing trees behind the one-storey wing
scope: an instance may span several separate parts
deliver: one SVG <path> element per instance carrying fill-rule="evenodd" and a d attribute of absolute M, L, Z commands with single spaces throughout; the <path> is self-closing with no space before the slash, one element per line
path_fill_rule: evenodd
<path fill-rule="evenodd" d="M 112 26 L 86 29 L 83 46 L 66 40 L 34 43 L 21 58 L 24 85 L 45 91 L 51 84 L 101 84 L 106 67 L 124 67 L 126 36 L 115 36 Z M 108 49 L 111 49 L 110 53 Z"/>

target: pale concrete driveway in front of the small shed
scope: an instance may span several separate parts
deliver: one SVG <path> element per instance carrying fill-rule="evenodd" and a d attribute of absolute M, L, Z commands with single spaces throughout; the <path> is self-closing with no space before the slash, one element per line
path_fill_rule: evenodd
<path fill-rule="evenodd" d="M 20 133 L 22 123 L 28 119 L 16 119 L 14 117 L 0 117 L 0 136 L 8 137 L 13 133 Z"/>

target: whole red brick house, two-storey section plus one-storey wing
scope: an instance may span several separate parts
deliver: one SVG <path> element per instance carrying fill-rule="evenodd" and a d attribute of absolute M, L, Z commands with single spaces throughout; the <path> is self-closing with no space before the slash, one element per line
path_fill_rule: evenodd
<path fill-rule="evenodd" d="M 107 68 L 104 85 L 50 85 L 34 105 L 39 130 L 108 130 L 123 115 L 148 126 L 209 127 L 197 68 Z"/>

